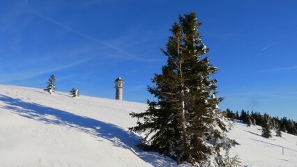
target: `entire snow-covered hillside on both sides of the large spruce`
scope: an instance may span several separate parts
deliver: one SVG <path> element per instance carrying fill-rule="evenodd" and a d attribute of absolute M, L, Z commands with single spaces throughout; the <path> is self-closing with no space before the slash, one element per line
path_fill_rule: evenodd
<path fill-rule="evenodd" d="M 135 148 L 139 136 L 128 127 L 136 120 L 128 113 L 144 109 L 135 102 L 0 86 L 0 166 L 176 166 Z M 241 145 L 231 154 L 243 166 L 297 166 L 297 136 L 266 139 L 259 128 L 236 122 L 228 135 Z"/>

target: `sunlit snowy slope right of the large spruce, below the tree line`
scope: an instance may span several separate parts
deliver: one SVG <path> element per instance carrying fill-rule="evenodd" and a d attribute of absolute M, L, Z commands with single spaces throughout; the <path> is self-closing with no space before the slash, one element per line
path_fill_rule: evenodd
<path fill-rule="evenodd" d="M 240 145 L 231 149 L 231 155 L 238 154 L 245 167 L 297 166 L 297 136 L 282 133 L 280 138 L 272 132 L 272 138 L 264 138 L 261 127 L 247 127 L 236 120 L 227 136 L 236 139 Z"/>

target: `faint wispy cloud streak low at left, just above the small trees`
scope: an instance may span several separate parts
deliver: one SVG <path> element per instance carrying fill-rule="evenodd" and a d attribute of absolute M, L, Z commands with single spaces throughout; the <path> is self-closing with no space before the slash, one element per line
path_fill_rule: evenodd
<path fill-rule="evenodd" d="M 0 74 L 0 84 L 5 84 L 6 82 L 10 81 L 19 81 L 24 79 L 31 79 L 33 77 L 37 77 L 40 74 L 47 74 L 50 72 L 57 72 L 61 70 L 65 70 L 70 67 L 74 67 L 76 65 L 82 64 L 86 61 L 91 60 L 91 58 L 86 58 L 80 61 L 75 61 L 69 63 L 67 65 L 60 65 L 56 67 L 47 68 L 45 70 L 34 70 L 33 72 L 17 72 L 17 73 L 10 73 L 10 74 Z"/>

